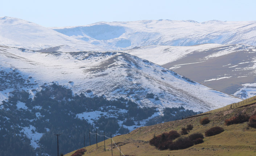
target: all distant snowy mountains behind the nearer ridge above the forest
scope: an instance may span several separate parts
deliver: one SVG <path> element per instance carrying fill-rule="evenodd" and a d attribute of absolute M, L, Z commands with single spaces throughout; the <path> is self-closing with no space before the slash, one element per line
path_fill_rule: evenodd
<path fill-rule="evenodd" d="M 0 45 L 40 52 L 125 50 L 208 87 L 246 98 L 256 91 L 255 26 L 255 21 L 148 20 L 45 28 L 1 17 Z"/>

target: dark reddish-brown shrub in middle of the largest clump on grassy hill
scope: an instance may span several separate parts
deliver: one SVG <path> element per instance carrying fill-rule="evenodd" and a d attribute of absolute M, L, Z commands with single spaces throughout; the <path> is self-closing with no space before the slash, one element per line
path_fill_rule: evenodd
<path fill-rule="evenodd" d="M 185 149 L 188 147 L 193 146 L 193 142 L 189 139 L 189 137 L 179 138 L 175 142 L 169 145 L 170 150 L 177 150 L 177 149 Z"/>

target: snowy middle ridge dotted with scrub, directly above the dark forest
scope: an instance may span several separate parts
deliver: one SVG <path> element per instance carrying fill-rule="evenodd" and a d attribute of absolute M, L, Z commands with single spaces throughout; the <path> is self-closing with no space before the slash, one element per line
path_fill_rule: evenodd
<path fill-rule="evenodd" d="M 141 106 L 206 111 L 239 101 L 123 52 L 47 53 L 1 46 L 0 66 L 17 68 L 32 76 L 38 86 L 56 81 L 75 93 L 91 90 L 88 96 L 124 97 Z M 147 97 L 150 93 L 153 98 Z"/>

